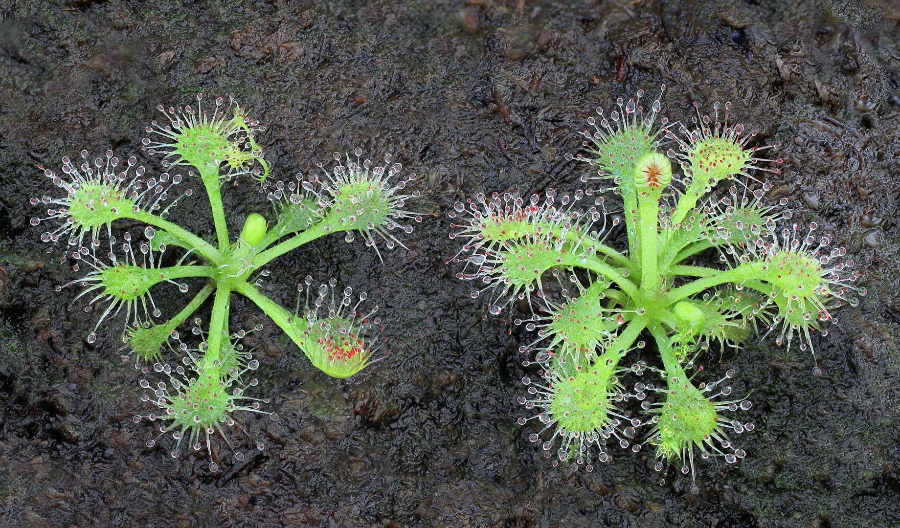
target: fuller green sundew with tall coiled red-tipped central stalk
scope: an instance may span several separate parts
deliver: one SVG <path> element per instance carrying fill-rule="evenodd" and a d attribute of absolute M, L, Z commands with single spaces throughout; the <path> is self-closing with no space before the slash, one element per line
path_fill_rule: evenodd
<path fill-rule="evenodd" d="M 527 396 L 518 402 L 530 415 L 518 423 L 542 425 L 530 440 L 545 458 L 590 471 L 594 461 L 610 460 L 609 443 L 639 452 L 641 435 L 655 447 L 655 469 L 680 461 L 698 493 L 695 453 L 735 463 L 746 452 L 730 434 L 754 428 L 733 414 L 752 405 L 727 385 L 734 370 L 707 379 L 698 354 L 710 345 L 739 347 L 754 334 L 788 347 L 799 341 L 812 353 L 812 335 L 827 336 L 833 309 L 856 306 L 854 294 L 866 291 L 831 236 L 816 237 L 815 223 L 788 223 L 791 211 L 764 203 L 771 183 L 747 171 L 778 173 L 772 165 L 781 160 L 750 146 L 756 130 L 729 124 L 730 103 L 724 116 L 716 103 L 713 116 L 698 110 L 692 125 L 662 119 L 660 127 L 660 100 L 644 109 L 642 97 L 643 90 L 619 99 L 608 117 L 599 108 L 588 120 L 593 130 L 581 132 L 582 153 L 566 155 L 596 171 L 582 183 L 611 186 L 479 194 L 455 204 L 450 217 L 462 230 L 450 237 L 465 240 L 458 276 L 492 287 L 491 314 L 513 300 L 535 314 L 514 321 L 536 332 L 520 348 L 534 362 L 523 362 Z M 671 146 L 666 155 L 661 145 Z M 621 211 L 607 209 L 607 192 L 620 196 Z M 617 243 L 609 235 L 622 218 L 627 241 Z M 706 265 L 707 250 L 720 265 Z M 620 366 L 648 337 L 659 362 Z M 635 379 L 626 389 L 627 373 Z"/>

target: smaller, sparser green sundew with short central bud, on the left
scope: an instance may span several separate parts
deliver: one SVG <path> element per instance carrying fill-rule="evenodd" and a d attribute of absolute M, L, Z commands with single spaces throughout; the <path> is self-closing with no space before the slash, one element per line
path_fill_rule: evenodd
<path fill-rule="evenodd" d="M 102 157 L 91 157 L 86 150 L 80 160 L 63 157 L 62 174 L 40 166 L 63 195 L 32 198 L 33 205 L 48 209 L 44 218 L 31 219 L 31 225 L 49 226 L 41 240 L 63 246 L 62 262 L 72 259 L 74 270 L 84 273 L 66 286 L 84 288 L 78 298 L 87 300 L 85 311 L 100 310 L 87 342 L 96 341 L 103 321 L 123 313 L 121 338 L 126 345 L 122 351 L 129 353 L 122 360 L 133 357 L 135 368 L 145 375 L 152 375 L 151 371 L 165 375 L 162 380 L 139 380 L 147 390 L 141 399 L 159 408 L 148 419 L 162 424 L 148 447 L 166 432 L 175 438 L 173 457 L 179 456 L 183 440 L 195 451 L 205 444 L 209 467 L 216 471 L 210 439 L 218 433 L 231 445 L 222 425 L 234 425 L 233 411 L 277 419 L 262 408 L 267 398 L 250 396 L 257 380 L 246 380 L 245 374 L 256 370 L 259 362 L 238 342 L 247 331 L 229 330 L 231 295 L 239 293 L 256 303 L 315 367 L 335 378 L 352 376 L 380 346 L 376 337 L 368 335 L 369 328 L 379 327 L 381 321 L 374 317 L 377 307 L 365 307 L 366 294 L 355 296 L 349 287 L 337 291 L 335 279 L 316 287 L 307 276 L 298 285 L 299 291 L 305 290 L 305 308 L 300 293 L 296 310 L 289 311 L 259 290 L 259 277 L 269 274 L 264 266 L 279 255 L 330 233 L 343 232 L 348 242 L 358 233 L 375 251 L 376 236 L 388 248 L 401 245 L 392 231 L 409 233 L 410 225 L 401 222 L 422 218 L 403 209 L 406 201 L 419 195 L 418 191 L 401 193 L 416 175 L 397 176 L 401 165 L 391 164 L 390 154 L 381 166 L 360 159 L 359 148 L 344 157 L 335 153 L 336 165 L 330 171 L 319 163 L 320 175 L 272 183 L 267 179 L 270 166 L 257 143 L 257 132 L 265 128 L 234 102 L 233 94 L 228 101 L 219 97 L 209 106 L 202 103 L 202 94 L 197 94 L 195 106 L 157 107 L 162 116 L 145 129 L 142 148 L 150 156 L 162 157 L 166 171 L 162 174 L 148 175 L 135 157 L 121 160 L 111 150 Z M 262 215 L 250 214 L 232 240 L 221 189 L 223 183 L 245 175 L 267 193 L 275 207 L 275 221 L 268 228 Z M 176 186 L 196 178 L 209 197 L 214 241 L 166 219 L 177 201 L 193 194 L 185 190 L 168 201 L 175 196 Z M 146 241 L 117 225 L 129 222 L 139 223 Z M 189 287 L 183 281 L 188 277 L 205 278 L 206 284 L 184 309 L 161 320 L 151 289 L 168 282 L 187 293 Z M 200 342 L 191 345 L 177 328 L 210 298 L 209 327 L 203 330 L 201 318 L 193 318 L 193 335 Z M 175 353 L 179 361 L 163 362 L 163 353 Z M 140 420 L 141 416 L 134 416 L 135 422 Z M 257 443 L 257 448 L 264 449 L 263 443 Z M 244 459 L 242 452 L 232 451 L 238 461 Z"/>

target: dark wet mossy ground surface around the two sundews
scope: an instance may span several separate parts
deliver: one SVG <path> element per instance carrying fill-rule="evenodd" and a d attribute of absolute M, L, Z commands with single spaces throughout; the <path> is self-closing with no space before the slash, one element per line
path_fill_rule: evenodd
<path fill-rule="evenodd" d="M 519 5 L 522 6 L 519 10 Z M 900 524 L 900 12 L 890 3 L 23 2 L 0 1 L 0 524 L 8 526 L 872 526 Z M 894 9 L 892 11 L 892 9 Z M 518 306 L 445 264 L 446 210 L 477 192 L 575 189 L 563 153 L 598 106 L 667 85 L 671 120 L 731 101 L 784 143 L 767 200 L 855 255 L 869 290 L 809 353 L 752 339 L 710 352 L 752 391 L 735 437 L 747 458 L 698 464 L 698 497 L 653 453 L 613 452 L 588 474 L 553 469 L 516 424 L 525 371 Z M 138 372 L 119 359 L 120 320 L 85 343 L 96 314 L 45 253 L 35 168 L 81 148 L 139 148 L 158 103 L 228 94 L 268 129 L 275 178 L 334 151 L 391 152 L 423 177 L 410 209 L 438 213 L 387 251 L 325 237 L 270 266 L 268 295 L 293 306 L 307 274 L 336 277 L 382 307 L 391 353 L 350 380 L 316 373 L 260 310 L 233 300 L 232 328 L 260 360 L 272 423 L 239 416 L 266 451 L 220 471 L 203 452 L 173 460 L 131 416 Z M 170 219 L 208 237 L 199 181 Z M 184 184 L 183 184 L 184 185 Z M 224 192 L 232 228 L 273 212 L 253 183 Z M 122 228 L 140 226 L 123 224 Z M 232 236 L 237 232 L 232 233 Z M 192 288 L 197 288 L 192 284 Z M 174 313 L 186 300 L 157 295 Z M 648 361 L 653 353 L 647 353 Z M 635 355 L 635 360 L 639 359 Z M 171 358 L 170 358 L 171 360 Z M 721 361 L 721 363 L 720 363 Z M 712 375 L 712 374 L 711 374 Z M 634 382 L 634 380 L 631 380 Z M 245 450 L 252 447 L 247 439 Z M 649 447 L 649 446 L 648 446 Z"/>

